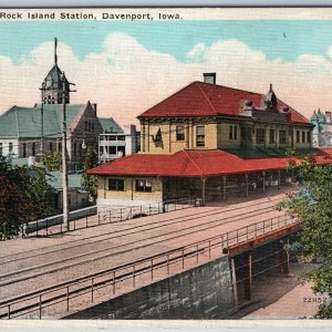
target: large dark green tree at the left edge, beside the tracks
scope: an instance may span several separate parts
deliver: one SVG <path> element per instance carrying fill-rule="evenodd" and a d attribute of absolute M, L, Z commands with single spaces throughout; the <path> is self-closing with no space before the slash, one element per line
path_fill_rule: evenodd
<path fill-rule="evenodd" d="M 17 235 L 22 224 L 50 215 L 52 194 L 44 169 L 12 166 L 0 157 L 0 239 Z"/>

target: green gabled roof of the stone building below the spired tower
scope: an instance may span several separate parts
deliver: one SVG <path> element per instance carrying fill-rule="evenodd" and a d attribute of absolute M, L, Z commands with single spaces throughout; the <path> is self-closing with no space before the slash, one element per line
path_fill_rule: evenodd
<path fill-rule="evenodd" d="M 66 124 L 71 126 L 82 107 L 86 105 L 66 104 Z M 60 104 L 43 105 L 43 135 L 49 137 L 61 136 Z M 0 137 L 40 137 L 41 135 L 41 105 L 34 107 L 13 106 L 0 115 Z"/>

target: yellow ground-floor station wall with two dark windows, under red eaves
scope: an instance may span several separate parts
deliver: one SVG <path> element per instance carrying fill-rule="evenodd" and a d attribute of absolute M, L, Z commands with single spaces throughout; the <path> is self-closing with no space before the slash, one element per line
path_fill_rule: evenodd
<path fill-rule="evenodd" d="M 124 179 L 124 190 L 108 190 L 108 179 Z M 136 191 L 136 179 L 148 179 L 152 183 L 152 193 Z M 163 183 L 157 177 L 141 176 L 98 176 L 97 180 L 98 199 L 117 199 L 117 200 L 162 200 Z M 132 189 L 133 188 L 133 189 Z"/>

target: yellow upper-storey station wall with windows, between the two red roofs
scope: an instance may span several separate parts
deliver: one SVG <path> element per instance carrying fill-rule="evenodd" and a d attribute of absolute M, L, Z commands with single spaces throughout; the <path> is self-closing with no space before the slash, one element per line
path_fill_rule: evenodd
<path fill-rule="evenodd" d="M 176 125 L 183 124 L 185 126 L 185 141 L 178 142 L 176 139 Z M 205 126 L 205 146 L 197 146 L 196 129 L 198 125 Z M 232 126 L 234 137 L 229 138 L 230 126 Z M 235 138 L 235 127 L 237 127 L 237 138 Z M 162 142 L 154 142 L 158 129 L 162 132 Z M 266 142 L 263 144 L 256 143 L 256 129 L 266 129 Z M 292 129 L 291 129 L 292 128 Z M 270 129 L 274 129 L 274 143 L 270 143 Z M 286 131 L 286 143 L 279 142 L 279 132 Z M 300 143 L 297 143 L 297 131 L 300 131 Z M 305 135 L 305 142 L 302 143 L 302 132 Z M 309 148 L 308 142 L 308 126 L 290 125 L 288 123 L 267 123 L 256 122 L 252 124 L 252 147 L 291 147 Z M 293 139 L 292 135 L 293 133 Z M 147 154 L 174 154 L 185 148 L 188 149 L 216 149 L 216 148 L 240 148 L 241 146 L 241 122 L 236 120 L 222 120 L 221 123 L 206 123 L 193 122 L 186 120 L 185 122 L 149 122 L 142 124 L 142 153 Z"/>

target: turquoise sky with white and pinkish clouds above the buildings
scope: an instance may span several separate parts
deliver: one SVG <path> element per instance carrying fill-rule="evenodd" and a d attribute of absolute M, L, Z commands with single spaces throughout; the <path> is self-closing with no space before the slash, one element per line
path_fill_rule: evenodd
<path fill-rule="evenodd" d="M 121 125 L 204 72 L 220 85 L 277 96 L 310 117 L 332 110 L 332 20 L 0 21 L 0 112 L 40 103 L 53 66 Z"/>

